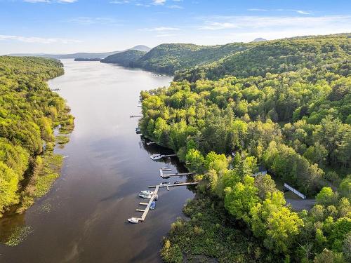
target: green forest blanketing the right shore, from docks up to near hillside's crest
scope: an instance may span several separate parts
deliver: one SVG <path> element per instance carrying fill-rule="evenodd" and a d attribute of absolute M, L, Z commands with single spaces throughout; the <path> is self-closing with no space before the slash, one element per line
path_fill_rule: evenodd
<path fill-rule="evenodd" d="M 345 34 L 249 43 L 140 94 L 143 134 L 198 174 L 166 262 L 350 262 L 350 46 Z M 274 180 L 316 204 L 294 211 Z"/>

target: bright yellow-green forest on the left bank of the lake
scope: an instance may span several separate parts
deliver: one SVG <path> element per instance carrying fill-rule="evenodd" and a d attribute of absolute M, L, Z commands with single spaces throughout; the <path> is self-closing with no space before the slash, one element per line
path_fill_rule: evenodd
<path fill-rule="evenodd" d="M 21 213 L 58 176 L 53 128 L 69 133 L 73 117 L 45 81 L 62 74 L 58 60 L 0 57 L 0 217 L 17 204 Z"/>

